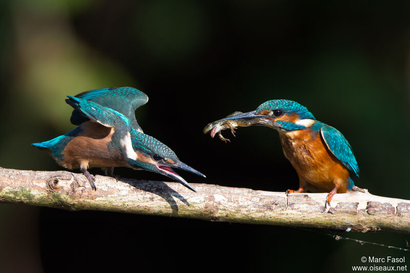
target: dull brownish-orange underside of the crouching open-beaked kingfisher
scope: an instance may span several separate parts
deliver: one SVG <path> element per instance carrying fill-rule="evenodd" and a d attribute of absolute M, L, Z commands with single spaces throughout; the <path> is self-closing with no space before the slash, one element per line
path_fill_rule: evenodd
<path fill-rule="evenodd" d="M 122 154 L 109 149 L 114 128 L 108 128 L 97 123 L 85 122 L 80 125 L 82 131 L 64 148 L 63 167 L 72 169 L 80 165 L 88 167 L 120 167 L 125 166 Z"/>

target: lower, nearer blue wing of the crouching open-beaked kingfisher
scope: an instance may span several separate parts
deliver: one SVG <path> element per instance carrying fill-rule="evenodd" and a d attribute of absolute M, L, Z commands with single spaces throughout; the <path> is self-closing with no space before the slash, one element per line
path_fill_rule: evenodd
<path fill-rule="evenodd" d="M 91 120 L 106 127 L 114 127 L 115 121 L 121 119 L 127 126 L 130 126 L 130 121 L 125 115 L 92 101 L 68 96 L 66 102 L 87 120 Z"/>

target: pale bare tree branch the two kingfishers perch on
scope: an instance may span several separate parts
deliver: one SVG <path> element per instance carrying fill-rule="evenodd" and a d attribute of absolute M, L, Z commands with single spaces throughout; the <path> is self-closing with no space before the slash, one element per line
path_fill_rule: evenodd
<path fill-rule="evenodd" d="M 83 174 L 0 168 L 0 203 L 68 210 L 105 210 L 251 224 L 410 233 L 410 200 L 368 192 L 336 194 L 269 192 L 209 184 L 119 179 L 96 175 L 97 190 Z"/>

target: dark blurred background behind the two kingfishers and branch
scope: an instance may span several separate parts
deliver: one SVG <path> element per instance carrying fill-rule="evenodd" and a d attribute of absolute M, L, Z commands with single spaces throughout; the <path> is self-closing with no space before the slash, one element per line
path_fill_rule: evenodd
<path fill-rule="evenodd" d="M 346 136 L 358 186 L 410 199 L 408 1 L 0 3 L 2 167 L 60 169 L 30 143 L 73 128 L 65 96 L 132 86 L 150 97 L 136 111 L 144 131 L 207 175 L 180 172 L 189 182 L 296 188 L 276 131 L 226 131 L 229 144 L 202 134 L 231 112 L 290 99 Z M 295 228 L 17 205 L 1 205 L 0 219 L 1 272 L 348 272 L 365 265 L 362 256 L 406 256 L 410 266 L 404 251 Z M 338 234 L 399 247 L 409 240 Z"/>

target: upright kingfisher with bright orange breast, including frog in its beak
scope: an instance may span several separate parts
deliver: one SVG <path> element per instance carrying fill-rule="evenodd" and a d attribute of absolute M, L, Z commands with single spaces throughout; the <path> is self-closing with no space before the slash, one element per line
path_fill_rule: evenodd
<path fill-rule="evenodd" d="M 227 118 L 209 124 L 204 133 L 216 133 L 221 140 L 227 141 L 220 134 L 235 127 L 268 126 L 279 132 L 283 153 L 299 177 L 297 190 L 286 190 L 286 195 L 293 192 L 329 192 L 326 205 L 336 193 L 345 193 L 354 187 L 353 179 L 359 178 L 359 166 L 351 145 L 343 134 L 332 126 L 317 121 L 304 106 L 289 100 L 271 100 L 262 103 L 256 110 L 236 112 Z M 360 189 L 360 188 L 357 188 Z"/>

